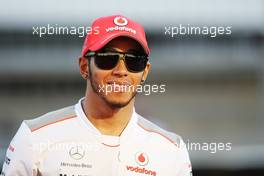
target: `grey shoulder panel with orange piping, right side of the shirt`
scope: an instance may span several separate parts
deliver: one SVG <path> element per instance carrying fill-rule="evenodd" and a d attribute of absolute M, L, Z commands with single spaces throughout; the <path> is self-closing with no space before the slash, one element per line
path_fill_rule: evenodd
<path fill-rule="evenodd" d="M 155 133 L 157 135 L 162 136 L 169 142 L 173 143 L 177 147 L 180 147 L 181 142 L 183 141 L 181 136 L 179 136 L 176 133 L 167 131 L 155 123 L 147 120 L 146 118 L 142 117 L 141 115 L 138 115 L 138 121 L 137 121 L 138 126 L 140 126 L 143 130 L 149 133 Z"/>

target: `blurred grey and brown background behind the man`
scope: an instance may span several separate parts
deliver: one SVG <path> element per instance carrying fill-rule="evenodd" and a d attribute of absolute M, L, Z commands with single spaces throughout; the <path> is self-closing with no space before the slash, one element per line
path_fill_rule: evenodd
<path fill-rule="evenodd" d="M 23 119 L 75 104 L 84 38 L 33 35 L 32 27 L 90 26 L 123 14 L 141 23 L 151 48 L 151 84 L 136 110 L 185 142 L 232 143 L 190 150 L 193 168 L 264 168 L 264 2 L 261 0 L 0 1 L 0 164 Z M 231 35 L 165 35 L 165 26 L 231 26 Z M 0 167 L 1 168 L 1 167 Z M 205 175 L 205 174 L 204 174 Z M 212 174 L 211 174 L 212 175 Z"/>

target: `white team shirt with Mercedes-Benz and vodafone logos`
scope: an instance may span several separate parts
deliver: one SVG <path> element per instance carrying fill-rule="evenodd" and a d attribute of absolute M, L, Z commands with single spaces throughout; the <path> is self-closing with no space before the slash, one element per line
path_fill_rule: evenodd
<path fill-rule="evenodd" d="M 135 111 L 121 136 L 102 135 L 75 105 L 25 120 L 11 141 L 3 176 L 190 176 L 178 135 Z"/>

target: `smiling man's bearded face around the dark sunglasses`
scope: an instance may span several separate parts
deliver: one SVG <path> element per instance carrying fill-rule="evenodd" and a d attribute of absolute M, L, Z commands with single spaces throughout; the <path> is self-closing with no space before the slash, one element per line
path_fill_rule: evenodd
<path fill-rule="evenodd" d="M 118 37 L 109 42 L 102 51 L 138 54 L 142 53 L 142 48 L 130 38 Z M 141 80 L 146 79 L 150 69 L 150 63 L 147 63 L 142 72 L 133 73 L 127 70 L 124 60 L 119 60 L 113 69 L 102 70 L 95 65 L 93 57 L 90 61 L 89 75 L 92 91 L 109 106 L 115 108 L 126 106 L 135 97 L 137 86 L 141 84 Z"/>

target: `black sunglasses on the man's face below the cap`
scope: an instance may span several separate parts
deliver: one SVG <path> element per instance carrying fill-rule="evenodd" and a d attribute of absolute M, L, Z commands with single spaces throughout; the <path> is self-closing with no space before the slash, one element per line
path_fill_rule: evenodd
<path fill-rule="evenodd" d="M 121 52 L 89 52 L 86 58 L 94 56 L 95 65 L 102 70 L 111 70 L 116 67 L 120 59 L 124 60 L 128 71 L 133 73 L 142 72 L 147 65 L 148 57 L 146 55 L 133 55 Z"/>

